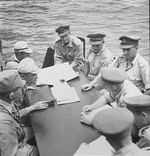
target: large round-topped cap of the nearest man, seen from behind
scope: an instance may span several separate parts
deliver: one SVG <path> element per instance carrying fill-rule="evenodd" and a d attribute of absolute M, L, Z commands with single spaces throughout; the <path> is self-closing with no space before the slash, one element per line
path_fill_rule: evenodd
<path fill-rule="evenodd" d="M 98 112 L 92 125 L 102 135 L 112 139 L 122 139 L 129 135 L 134 115 L 125 108 L 108 108 Z"/>

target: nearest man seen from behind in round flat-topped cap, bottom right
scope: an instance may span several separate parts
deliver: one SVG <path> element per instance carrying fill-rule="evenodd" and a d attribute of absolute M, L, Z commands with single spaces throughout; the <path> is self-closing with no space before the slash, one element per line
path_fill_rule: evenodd
<path fill-rule="evenodd" d="M 92 125 L 106 137 L 106 140 L 115 149 L 114 156 L 149 156 L 150 151 L 140 149 L 132 142 L 133 122 L 132 112 L 124 108 L 113 108 L 96 114 Z"/>

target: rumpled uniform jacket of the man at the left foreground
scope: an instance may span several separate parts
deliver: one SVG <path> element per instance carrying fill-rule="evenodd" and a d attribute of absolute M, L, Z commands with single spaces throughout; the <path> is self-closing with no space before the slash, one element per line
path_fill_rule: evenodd
<path fill-rule="evenodd" d="M 38 156 L 38 150 L 23 142 L 24 131 L 20 116 L 28 112 L 20 111 L 17 106 L 0 100 L 0 155 L 1 156 Z"/>

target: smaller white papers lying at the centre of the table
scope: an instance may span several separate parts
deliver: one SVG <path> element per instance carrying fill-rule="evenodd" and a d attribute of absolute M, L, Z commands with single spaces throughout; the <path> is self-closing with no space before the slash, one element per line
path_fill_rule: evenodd
<path fill-rule="evenodd" d="M 51 90 L 58 105 L 80 101 L 75 88 L 70 87 L 67 82 L 57 83 Z"/>

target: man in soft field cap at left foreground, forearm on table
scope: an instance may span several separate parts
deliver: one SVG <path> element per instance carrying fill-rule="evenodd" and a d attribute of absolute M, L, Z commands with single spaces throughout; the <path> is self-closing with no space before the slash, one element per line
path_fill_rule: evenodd
<path fill-rule="evenodd" d="M 21 80 L 17 71 L 5 70 L 0 72 L 0 155 L 1 156 L 38 156 L 36 146 L 24 142 L 25 133 L 20 122 L 34 110 L 46 109 L 48 104 L 37 102 L 19 111 L 23 100 Z"/>

